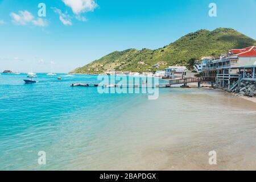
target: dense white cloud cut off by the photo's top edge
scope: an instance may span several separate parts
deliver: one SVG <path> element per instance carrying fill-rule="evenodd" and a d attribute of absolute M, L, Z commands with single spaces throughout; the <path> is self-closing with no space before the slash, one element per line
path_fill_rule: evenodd
<path fill-rule="evenodd" d="M 76 15 L 93 11 L 98 6 L 94 0 L 62 0 Z"/>

